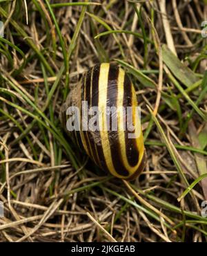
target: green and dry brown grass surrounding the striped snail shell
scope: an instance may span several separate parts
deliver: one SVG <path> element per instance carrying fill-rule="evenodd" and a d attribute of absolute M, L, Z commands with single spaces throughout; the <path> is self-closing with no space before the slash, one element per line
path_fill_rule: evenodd
<path fill-rule="evenodd" d="M 206 241 L 206 13 L 204 1 L 0 1 L 0 241 Z M 141 106 L 147 164 L 130 183 L 59 120 L 83 73 L 108 61 Z"/>

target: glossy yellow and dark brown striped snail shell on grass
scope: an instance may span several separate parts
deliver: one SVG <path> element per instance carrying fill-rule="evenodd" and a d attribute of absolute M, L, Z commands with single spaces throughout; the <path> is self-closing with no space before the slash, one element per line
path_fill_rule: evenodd
<path fill-rule="evenodd" d="M 119 66 L 101 63 L 90 68 L 63 103 L 61 123 L 102 170 L 126 180 L 144 170 L 135 88 Z"/>

